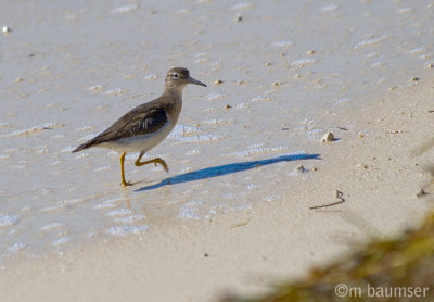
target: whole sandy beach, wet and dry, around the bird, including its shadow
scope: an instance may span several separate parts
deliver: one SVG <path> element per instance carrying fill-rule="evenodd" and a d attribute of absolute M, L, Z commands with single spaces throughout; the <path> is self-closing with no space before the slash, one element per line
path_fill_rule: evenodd
<path fill-rule="evenodd" d="M 434 152 L 431 11 L 11 2 L 0 13 L 0 299 L 263 293 L 417 225 L 432 206 L 417 197 Z M 129 154 L 138 183 L 122 189 L 116 153 L 71 153 L 158 97 L 177 65 L 208 88 L 186 88 L 177 128 L 146 154 L 169 174 Z M 327 133 L 335 139 L 321 142 Z"/>

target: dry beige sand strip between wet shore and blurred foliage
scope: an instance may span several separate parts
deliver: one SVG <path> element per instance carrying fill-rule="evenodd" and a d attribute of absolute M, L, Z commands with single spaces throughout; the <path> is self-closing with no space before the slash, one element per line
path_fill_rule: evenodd
<path fill-rule="evenodd" d="M 218 219 L 179 221 L 153 231 L 82 247 L 62 257 L 21 259 L 0 272 L 2 301 L 210 301 L 230 290 L 260 292 L 303 276 L 372 237 L 417 223 L 417 199 L 434 150 L 429 79 L 379 96 L 359 112 L 334 114 L 337 141 L 320 143 L 311 181 L 284 198 Z M 361 135 L 363 134 L 363 135 Z M 309 206 L 345 202 L 322 210 Z"/>

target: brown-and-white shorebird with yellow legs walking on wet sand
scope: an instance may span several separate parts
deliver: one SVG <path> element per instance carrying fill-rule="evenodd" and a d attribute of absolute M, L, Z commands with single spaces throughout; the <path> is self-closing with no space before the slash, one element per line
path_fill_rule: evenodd
<path fill-rule="evenodd" d="M 136 166 L 154 163 L 168 172 L 167 164 L 161 158 L 141 162 L 145 152 L 162 142 L 174 129 L 182 109 L 182 89 L 188 84 L 206 87 L 190 76 L 183 67 L 167 72 L 163 95 L 148 103 L 138 105 L 124 114 L 112 126 L 91 140 L 78 146 L 73 152 L 88 148 L 107 148 L 120 153 L 122 186 L 131 186 L 125 180 L 124 162 L 127 152 L 140 152 Z"/>

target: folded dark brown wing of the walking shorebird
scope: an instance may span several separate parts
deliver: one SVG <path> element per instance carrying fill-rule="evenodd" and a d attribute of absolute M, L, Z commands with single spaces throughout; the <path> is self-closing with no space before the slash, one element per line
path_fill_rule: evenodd
<path fill-rule="evenodd" d="M 152 134 L 163 128 L 167 122 L 164 106 L 142 104 L 126 113 L 97 137 L 78 146 L 73 152 L 135 135 Z"/>

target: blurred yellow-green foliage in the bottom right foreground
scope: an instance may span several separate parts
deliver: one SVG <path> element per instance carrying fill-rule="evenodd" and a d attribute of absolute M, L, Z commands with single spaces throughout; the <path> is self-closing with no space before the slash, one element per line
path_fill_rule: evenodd
<path fill-rule="evenodd" d="M 222 301 L 434 301 L 434 213 L 419 228 L 368 243 L 306 279 L 277 286 L 271 294 Z"/>

